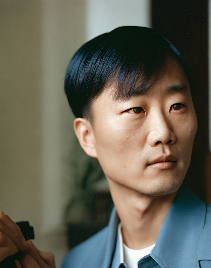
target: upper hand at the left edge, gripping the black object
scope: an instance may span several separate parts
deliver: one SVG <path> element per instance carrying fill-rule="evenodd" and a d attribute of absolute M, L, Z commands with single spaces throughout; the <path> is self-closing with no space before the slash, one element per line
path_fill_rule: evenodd
<path fill-rule="evenodd" d="M 27 250 L 20 228 L 0 210 L 0 261 L 18 252 Z"/>

